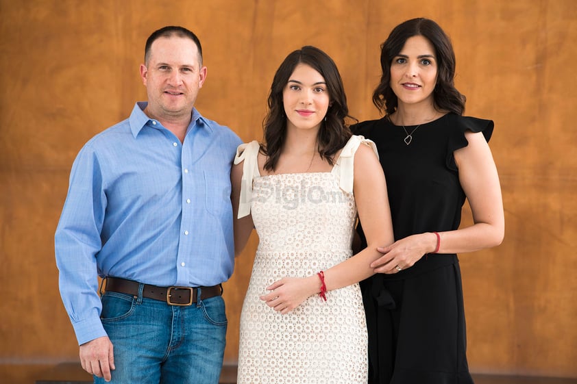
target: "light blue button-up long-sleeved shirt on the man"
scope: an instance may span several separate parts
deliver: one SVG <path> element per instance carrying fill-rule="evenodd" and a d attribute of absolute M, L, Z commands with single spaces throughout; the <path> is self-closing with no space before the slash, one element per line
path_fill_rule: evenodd
<path fill-rule="evenodd" d="M 72 166 L 55 243 L 79 344 L 106 335 L 97 274 L 194 287 L 234 268 L 230 167 L 241 139 L 193 110 L 181 143 L 146 105 L 88 141 Z"/>

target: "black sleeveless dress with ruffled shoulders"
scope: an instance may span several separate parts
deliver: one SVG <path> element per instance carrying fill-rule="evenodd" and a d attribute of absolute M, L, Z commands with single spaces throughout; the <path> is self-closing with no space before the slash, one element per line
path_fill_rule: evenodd
<path fill-rule="evenodd" d="M 415 126 L 405 129 L 411 133 Z M 467 146 L 465 131 L 482 131 L 488 142 L 493 121 L 446 114 L 417 127 L 410 144 L 403 127 L 387 118 L 359 123 L 352 130 L 376 143 L 395 240 L 458 229 L 465 192 L 453 153 Z M 365 242 L 361 225 L 358 232 Z M 369 331 L 369 383 L 473 383 L 455 254 L 424 255 L 413 267 L 376 274 L 361 288 Z"/>

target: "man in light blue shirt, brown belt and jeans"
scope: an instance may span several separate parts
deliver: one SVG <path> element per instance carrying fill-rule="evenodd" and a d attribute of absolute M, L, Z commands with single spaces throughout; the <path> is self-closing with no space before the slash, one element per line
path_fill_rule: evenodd
<path fill-rule="evenodd" d="M 95 383 L 219 381 L 221 283 L 234 267 L 230 167 L 241 140 L 195 110 L 206 71 L 193 32 L 155 31 L 140 65 L 148 101 L 73 164 L 56 262 Z"/>

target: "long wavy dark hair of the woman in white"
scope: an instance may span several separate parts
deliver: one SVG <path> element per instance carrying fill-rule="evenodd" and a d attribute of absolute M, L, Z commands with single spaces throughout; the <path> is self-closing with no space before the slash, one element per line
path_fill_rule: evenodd
<path fill-rule="evenodd" d="M 343 86 L 343 79 L 332 59 L 316 47 L 306 46 L 289 53 L 275 73 L 269 92 L 269 112 L 263 122 L 265 129 L 265 143 L 261 151 L 267 155 L 266 170 L 274 170 L 286 140 L 286 115 L 282 92 L 289 83 L 289 79 L 298 64 L 306 64 L 319 72 L 325 79 L 329 107 L 326 120 L 321 123 L 317 136 L 319 155 L 329 164 L 334 164 L 334 155 L 347 143 L 352 136 L 345 125 L 345 118 L 349 116 L 347 96 Z M 354 118 L 353 118 L 354 119 Z"/>

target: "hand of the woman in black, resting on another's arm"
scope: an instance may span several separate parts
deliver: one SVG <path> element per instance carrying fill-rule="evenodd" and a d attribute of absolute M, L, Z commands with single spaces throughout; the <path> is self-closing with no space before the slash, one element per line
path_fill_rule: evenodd
<path fill-rule="evenodd" d="M 423 255 L 437 247 L 437 235 L 432 232 L 410 235 L 389 246 L 379 247 L 382 253 L 371 263 L 376 273 L 393 274 L 412 267 Z"/>

